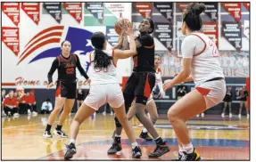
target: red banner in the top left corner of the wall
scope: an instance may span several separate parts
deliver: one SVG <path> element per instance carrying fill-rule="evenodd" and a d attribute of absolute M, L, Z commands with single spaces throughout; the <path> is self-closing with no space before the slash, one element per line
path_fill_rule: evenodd
<path fill-rule="evenodd" d="M 20 23 L 20 3 L 1 3 L 2 11 L 10 18 L 15 26 Z"/>

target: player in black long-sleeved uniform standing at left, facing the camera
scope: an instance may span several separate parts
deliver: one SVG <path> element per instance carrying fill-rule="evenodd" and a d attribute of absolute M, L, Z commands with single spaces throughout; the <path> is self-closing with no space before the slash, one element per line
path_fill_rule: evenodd
<path fill-rule="evenodd" d="M 56 69 L 58 69 L 58 80 L 57 80 L 57 88 L 55 93 L 55 106 L 54 110 L 51 112 L 48 117 L 47 126 L 45 129 L 45 133 L 43 135 L 44 138 L 52 138 L 51 127 L 54 124 L 54 120 L 57 115 L 62 110 L 62 114 L 60 116 L 60 121 L 54 130 L 54 134 L 61 136 L 62 138 L 67 138 L 68 136 L 62 132 L 62 125 L 65 119 L 69 116 L 70 111 L 73 107 L 76 91 L 77 91 L 77 77 L 76 77 L 76 68 L 78 68 L 79 72 L 82 76 L 86 77 L 87 83 L 90 82 L 90 79 L 87 76 L 86 71 L 82 68 L 79 58 L 76 54 L 70 54 L 71 45 L 69 41 L 62 42 L 62 54 L 58 56 L 48 73 L 48 86 L 50 88 L 54 86 L 53 83 L 53 74 Z"/>

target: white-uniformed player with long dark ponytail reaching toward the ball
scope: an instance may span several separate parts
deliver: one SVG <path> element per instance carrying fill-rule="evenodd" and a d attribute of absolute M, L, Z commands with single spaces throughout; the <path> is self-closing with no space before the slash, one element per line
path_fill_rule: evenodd
<path fill-rule="evenodd" d="M 136 54 L 136 43 L 132 25 L 131 23 L 124 23 L 123 30 L 129 36 L 130 50 L 106 50 L 107 41 L 102 32 L 95 32 L 91 37 L 95 51 L 90 53 L 89 56 L 91 61 L 88 69 L 88 75 L 91 79 L 90 91 L 86 100 L 78 109 L 70 126 L 70 143 L 67 145 L 65 159 L 72 158 L 76 153 L 75 143 L 79 126 L 103 106 L 105 102 L 108 102 L 111 108 L 114 109 L 116 117 L 118 117 L 128 135 L 128 139 L 132 145 L 132 157 L 140 158 L 142 156 L 141 150 L 136 143 L 135 133 L 126 117 L 124 97 L 116 73 L 116 64 L 119 59 L 127 59 Z M 120 41 L 119 44 L 121 43 Z"/>

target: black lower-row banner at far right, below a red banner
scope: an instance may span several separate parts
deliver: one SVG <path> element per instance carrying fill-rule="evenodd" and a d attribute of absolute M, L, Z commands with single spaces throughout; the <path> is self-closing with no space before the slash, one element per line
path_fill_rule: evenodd
<path fill-rule="evenodd" d="M 239 23 L 223 21 L 222 36 L 224 36 L 236 50 L 240 50 L 242 48 L 241 27 Z"/>

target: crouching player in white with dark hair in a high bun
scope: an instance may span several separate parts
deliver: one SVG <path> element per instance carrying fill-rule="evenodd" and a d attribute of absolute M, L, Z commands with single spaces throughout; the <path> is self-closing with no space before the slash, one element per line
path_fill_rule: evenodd
<path fill-rule="evenodd" d="M 177 160 L 194 161 L 201 157 L 190 142 L 186 121 L 217 105 L 226 93 L 226 83 L 220 67 L 219 51 L 211 39 L 199 33 L 202 28 L 200 14 L 204 4 L 194 3 L 183 15 L 182 42 L 183 66 L 178 76 L 166 80 L 164 91 L 181 82 L 194 80 L 195 89 L 174 103 L 168 111 L 179 143 Z"/>

